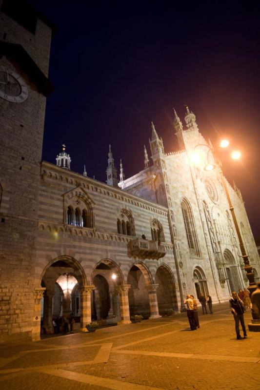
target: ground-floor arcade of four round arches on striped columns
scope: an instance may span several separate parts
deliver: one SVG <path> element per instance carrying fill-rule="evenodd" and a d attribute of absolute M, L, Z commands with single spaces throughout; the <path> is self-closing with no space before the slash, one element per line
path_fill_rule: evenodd
<path fill-rule="evenodd" d="M 80 263 L 70 256 L 46 265 L 39 277 L 40 287 L 35 289 L 34 340 L 40 338 L 42 329 L 53 333 L 56 318 L 73 317 L 85 331 L 85 325 L 93 320 L 128 324 L 135 314 L 158 318 L 166 309 L 178 311 L 174 275 L 166 264 L 152 277 L 148 267 L 137 261 L 123 275 L 113 260 L 102 259 L 89 280 L 91 284 Z"/>

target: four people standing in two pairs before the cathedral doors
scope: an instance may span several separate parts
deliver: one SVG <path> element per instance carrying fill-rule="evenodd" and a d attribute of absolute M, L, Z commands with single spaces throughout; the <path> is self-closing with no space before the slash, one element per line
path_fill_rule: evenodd
<path fill-rule="evenodd" d="M 212 312 L 212 299 L 211 296 L 208 294 L 206 297 L 204 294 L 200 294 L 199 301 L 202 306 L 202 314 L 208 314 L 207 312 L 207 305 L 209 312 L 213 314 Z M 196 329 L 200 328 L 200 322 L 199 322 L 199 316 L 198 316 L 198 303 L 195 299 L 194 295 L 187 295 L 184 305 L 186 305 L 187 310 L 187 316 L 190 324 L 190 329 L 192 331 L 196 331 Z"/>

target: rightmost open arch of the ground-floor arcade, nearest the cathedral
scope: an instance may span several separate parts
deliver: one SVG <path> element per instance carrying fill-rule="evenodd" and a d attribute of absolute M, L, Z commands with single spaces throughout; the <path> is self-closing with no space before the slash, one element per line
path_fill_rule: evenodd
<path fill-rule="evenodd" d="M 157 268 L 155 283 L 159 285 L 157 290 L 159 314 L 163 315 L 166 309 L 178 312 L 175 278 L 166 264 L 160 264 Z"/>

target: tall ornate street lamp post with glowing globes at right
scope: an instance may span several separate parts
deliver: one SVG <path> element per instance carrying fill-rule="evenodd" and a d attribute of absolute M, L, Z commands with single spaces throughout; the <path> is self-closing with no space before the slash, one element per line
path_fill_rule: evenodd
<path fill-rule="evenodd" d="M 229 142 L 227 140 L 223 140 L 220 143 L 221 147 L 227 147 L 228 145 L 229 145 Z M 237 236 L 238 236 L 239 245 L 240 245 L 240 251 L 241 251 L 242 259 L 243 259 L 243 262 L 244 262 L 244 270 L 246 272 L 246 276 L 247 276 L 247 279 L 249 281 L 248 290 L 249 290 L 250 296 L 251 296 L 252 292 L 254 292 L 257 289 L 257 286 L 256 286 L 256 283 L 255 283 L 254 273 L 252 272 L 252 266 L 250 265 L 248 255 L 246 254 L 245 247 L 244 247 L 244 244 L 243 244 L 243 241 L 242 241 L 240 228 L 239 228 L 237 217 L 236 217 L 236 214 L 235 214 L 235 211 L 234 211 L 234 206 L 232 204 L 231 197 L 229 195 L 228 188 L 227 188 L 227 185 L 226 185 L 226 181 L 225 181 L 225 178 L 224 178 L 224 175 L 223 175 L 223 172 L 222 172 L 222 167 L 221 167 L 222 164 L 221 164 L 219 159 L 217 159 L 217 164 L 215 163 L 215 161 L 216 161 L 215 150 L 213 149 L 212 146 L 209 146 L 207 144 L 198 144 L 193 149 L 194 154 L 192 156 L 192 160 L 193 160 L 193 163 L 195 165 L 200 160 L 200 156 L 196 155 L 196 152 L 195 152 L 195 150 L 197 148 L 199 148 L 199 147 L 207 149 L 206 158 L 203 161 L 203 163 L 204 163 L 203 169 L 205 171 L 212 171 L 213 169 L 216 168 L 216 166 L 218 166 L 218 168 L 219 168 L 221 183 L 222 183 L 222 186 L 223 186 L 223 189 L 224 189 L 227 201 L 228 201 L 229 210 L 231 212 L 231 215 L 232 215 L 232 218 L 233 218 L 233 222 L 234 222 L 234 225 L 235 225 L 235 229 L 236 229 L 236 233 L 237 233 Z M 214 157 L 214 162 L 210 161 L 210 158 L 209 158 L 210 154 L 212 154 L 212 156 Z M 238 152 L 238 151 L 232 152 L 232 158 L 239 159 L 240 158 L 240 152 Z M 260 331 L 260 313 L 252 312 L 252 317 L 253 317 L 252 323 L 248 324 L 249 331 Z"/>

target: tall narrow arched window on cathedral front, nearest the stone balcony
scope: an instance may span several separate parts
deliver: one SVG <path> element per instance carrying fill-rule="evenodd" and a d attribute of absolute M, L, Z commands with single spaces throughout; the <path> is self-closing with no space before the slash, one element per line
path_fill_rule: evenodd
<path fill-rule="evenodd" d="M 181 202 L 181 210 L 184 219 L 184 225 L 185 225 L 190 253 L 192 255 L 200 257 L 200 247 L 198 243 L 197 233 L 195 230 L 194 218 L 193 218 L 190 204 L 186 199 L 183 199 Z"/>

